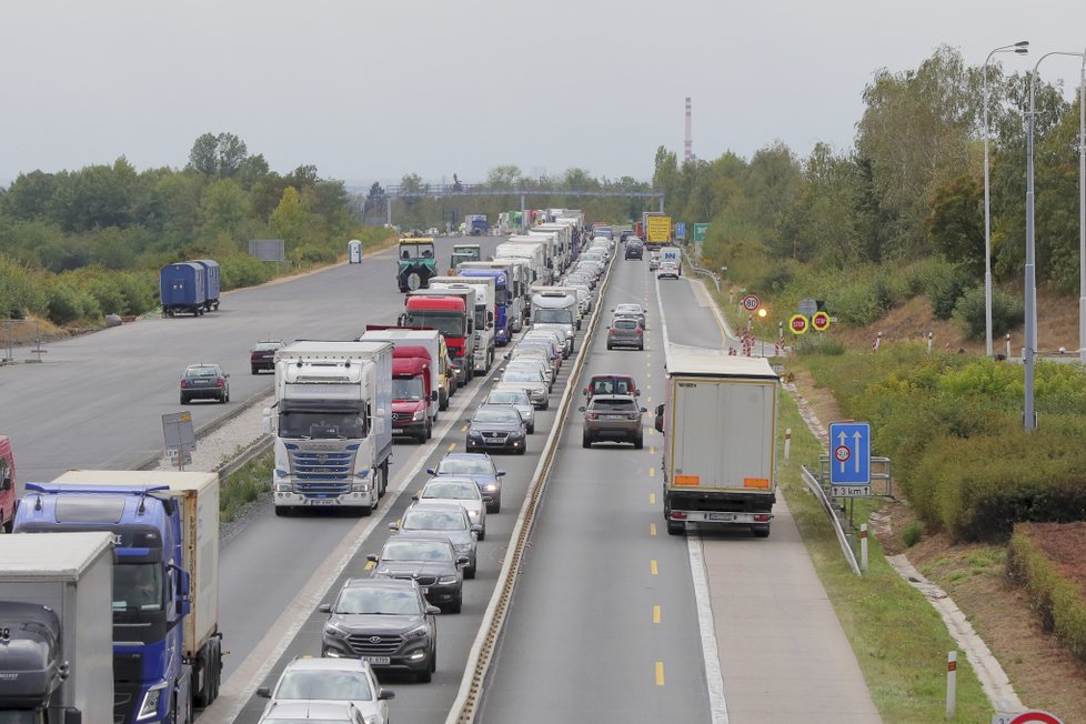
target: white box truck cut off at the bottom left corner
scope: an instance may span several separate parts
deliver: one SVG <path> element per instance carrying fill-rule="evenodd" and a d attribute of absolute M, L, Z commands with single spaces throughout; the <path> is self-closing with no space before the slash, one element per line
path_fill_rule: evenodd
<path fill-rule="evenodd" d="M 0 535 L 0 722 L 113 721 L 113 536 Z"/>

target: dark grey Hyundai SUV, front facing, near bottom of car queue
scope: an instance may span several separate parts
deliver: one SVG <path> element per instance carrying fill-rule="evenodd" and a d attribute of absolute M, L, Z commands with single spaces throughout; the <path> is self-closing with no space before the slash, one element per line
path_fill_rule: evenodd
<path fill-rule="evenodd" d="M 450 549 L 448 541 L 435 543 Z M 434 614 L 441 613 L 423 597 L 419 580 L 430 577 L 436 581 L 430 574 L 348 579 L 335 602 L 318 609 L 328 614 L 321 656 L 361 658 L 376 670 L 406 671 L 421 682 L 430 681 L 438 667 Z M 459 571 L 454 577 L 462 580 Z"/>

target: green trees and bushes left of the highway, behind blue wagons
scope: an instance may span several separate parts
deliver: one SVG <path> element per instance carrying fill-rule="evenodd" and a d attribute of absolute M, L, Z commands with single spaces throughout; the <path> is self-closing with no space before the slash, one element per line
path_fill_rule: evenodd
<path fill-rule="evenodd" d="M 195 140 L 181 169 L 137 171 L 124 158 L 78 171 L 22 173 L 0 192 L 0 319 L 58 324 L 141 314 L 158 304 L 158 270 L 214 259 L 223 289 L 282 270 L 249 255 L 250 239 L 283 239 L 292 269 L 329 263 L 363 230 L 358 200 L 316 168 L 271 171 L 235 135 Z"/>

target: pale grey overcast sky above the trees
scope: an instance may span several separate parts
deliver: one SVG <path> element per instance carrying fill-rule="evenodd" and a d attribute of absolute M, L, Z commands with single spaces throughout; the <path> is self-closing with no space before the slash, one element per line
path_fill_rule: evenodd
<path fill-rule="evenodd" d="M 273 170 L 351 182 L 499 164 L 648 179 L 656 147 L 750 158 L 852 145 L 879 68 L 1086 48 L 1086 1 L 0 0 L 0 180 L 188 161 L 239 135 Z M 1079 61 L 1046 80 L 1078 84 Z"/>

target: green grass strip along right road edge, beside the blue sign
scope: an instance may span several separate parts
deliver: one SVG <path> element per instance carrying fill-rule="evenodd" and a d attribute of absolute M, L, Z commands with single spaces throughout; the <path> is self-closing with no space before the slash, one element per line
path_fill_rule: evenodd
<path fill-rule="evenodd" d="M 822 585 L 848 637 L 872 700 L 888 724 L 944 721 L 946 654 L 956 644 L 938 613 L 886 562 L 868 539 L 868 571 L 856 576 L 845 563 L 833 527 L 803 483 L 800 466 L 814 465 L 819 441 L 807 430 L 795 401 L 782 396 L 781 435 L 791 428 L 791 462 L 781 464 L 780 482 Z M 781 441 L 783 449 L 783 438 Z M 857 524 L 879 501 L 856 503 Z M 992 710 L 964 653 L 958 653 L 955 722 L 987 724 Z"/>

